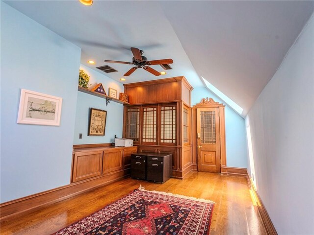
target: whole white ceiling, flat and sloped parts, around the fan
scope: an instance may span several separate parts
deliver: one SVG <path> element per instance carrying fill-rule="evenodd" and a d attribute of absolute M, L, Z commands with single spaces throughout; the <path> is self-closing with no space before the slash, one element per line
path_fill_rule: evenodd
<path fill-rule="evenodd" d="M 81 47 L 82 64 L 118 70 L 106 74 L 116 81 L 132 65 L 104 60 L 131 62 L 130 47 L 137 47 L 149 60 L 172 58 L 173 70 L 158 77 L 137 70 L 124 83 L 183 75 L 195 88 L 203 76 L 244 109 L 243 117 L 314 11 L 314 1 L 301 0 L 4 2 Z"/>

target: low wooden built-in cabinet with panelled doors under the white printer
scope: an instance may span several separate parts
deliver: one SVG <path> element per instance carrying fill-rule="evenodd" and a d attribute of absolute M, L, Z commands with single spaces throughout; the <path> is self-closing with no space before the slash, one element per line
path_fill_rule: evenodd
<path fill-rule="evenodd" d="M 113 181 L 130 175 L 131 154 L 137 146 L 113 147 L 101 144 L 74 145 L 71 182 L 95 177 Z"/>

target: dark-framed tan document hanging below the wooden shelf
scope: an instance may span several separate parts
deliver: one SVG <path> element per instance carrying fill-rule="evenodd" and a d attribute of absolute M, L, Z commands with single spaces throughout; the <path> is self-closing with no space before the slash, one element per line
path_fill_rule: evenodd
<path fill-rule="evenodd" d="M 88 136 L 105 136 L 107 111 L 90 108 Z"/>

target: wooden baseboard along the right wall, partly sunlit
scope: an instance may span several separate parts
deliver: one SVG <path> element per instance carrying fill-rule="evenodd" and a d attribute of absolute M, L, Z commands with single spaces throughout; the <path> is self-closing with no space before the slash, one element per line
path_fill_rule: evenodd
<path fill-rule="evenodd" d="M 246 170 L 246 179 L 247 179 L 248 186 L 253 193 L 253 197 L 254 197 L 254 200 L 256 202 L 257 209 L 258 209 L 259 214 L 261 216 L 262 223 L 264 225 L 264 228 L 266 230 L 267 235 L 278 235 L 277 231 L 276 231 L 273 223 L 271 222 L 271 219 L 270 219 L 270 217 L 266 211 L 266 208 L 264 207 L 264 204 L 262 203 L 262 199 L 261 199 L 259 193 L 257 192 L 257 190 L 253 184 L 253 181 L 252 181 L 251 177 L 249 176 L 249 173 L 247 172 L 247 170 Z"/>

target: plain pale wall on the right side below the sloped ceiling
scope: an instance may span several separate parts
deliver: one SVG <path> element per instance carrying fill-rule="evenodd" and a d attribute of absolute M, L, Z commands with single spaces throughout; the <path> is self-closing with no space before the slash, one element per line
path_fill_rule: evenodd
<path fill-rule="evenodd" d="M 313 39 L 312 15 L 246 117 L 257 191 L 278 234 L 314 234 Z"/>

